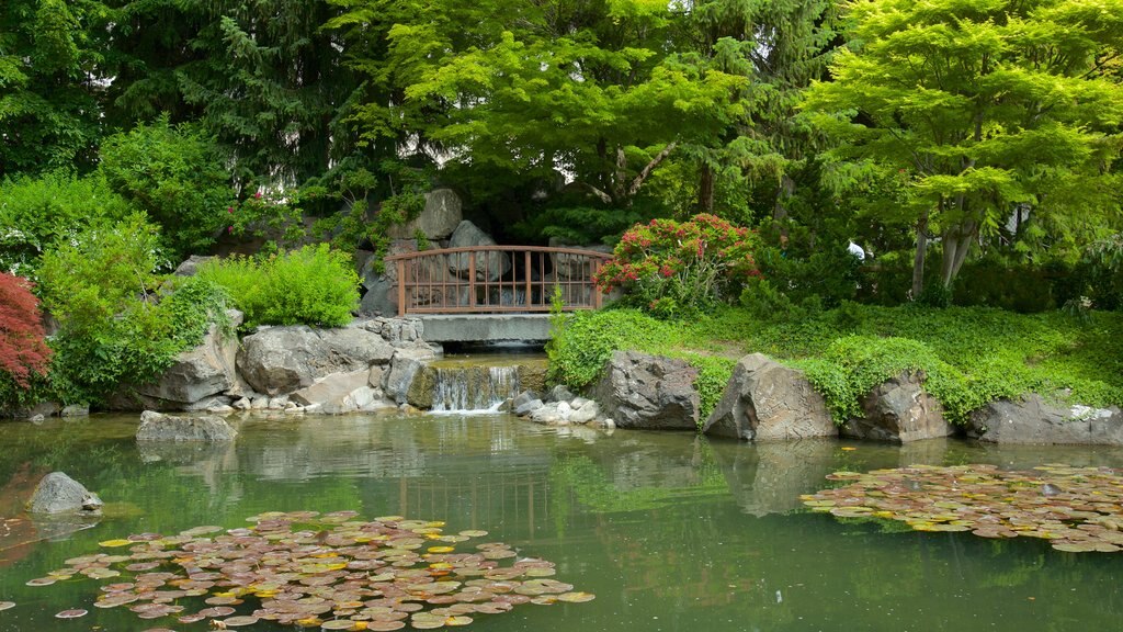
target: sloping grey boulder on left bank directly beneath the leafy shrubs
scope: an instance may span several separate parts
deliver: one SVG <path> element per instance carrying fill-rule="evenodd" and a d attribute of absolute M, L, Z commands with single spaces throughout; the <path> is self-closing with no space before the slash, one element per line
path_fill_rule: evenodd
<path fill-rule="evenodd" d="M 227 316 L 232 327 L 241 324 L 241 312 L 230 309 Z M 170 403 L 173 407 L 185 407 L 226 392 L 237 383 L 237 354 L 238 336 L 232 332 L 223 334 L 218 326 L 211 325 L 199 346 L 180 353 L 158 381 L 139 386 L 136 390 L 141 396 Z"/>

